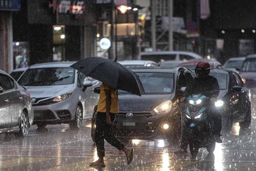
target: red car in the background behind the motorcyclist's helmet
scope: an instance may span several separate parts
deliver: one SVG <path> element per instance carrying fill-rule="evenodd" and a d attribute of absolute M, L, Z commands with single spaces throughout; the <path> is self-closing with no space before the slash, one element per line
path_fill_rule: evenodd
<path fill-rule="evenodd" d="M 189 68 L 189 69 L 195 69 L 197 63 L 200 62 L 200 61 L 207 61 L 210 64 L 211 69 L 223 69 L 224 68 L 219 61 L 214 60 L 214 59 L 189 60 L 187 62 L 179 64 L 178 66 L 179 67 L 186 67 L 186 68 Z"/>

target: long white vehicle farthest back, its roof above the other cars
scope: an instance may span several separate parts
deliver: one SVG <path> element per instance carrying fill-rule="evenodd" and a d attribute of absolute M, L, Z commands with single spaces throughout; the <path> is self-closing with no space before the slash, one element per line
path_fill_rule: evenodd
<path fill-rule="evenodd" d="M 163 62 L 165 60 L 182 60 L 187 61 L 191 59 L 202 59 L 202 56 L 193 52 L 184 51 L 162 51 L 162 52 L 142 52 L 142 60 L 152 60 L 154 62 Z"/>

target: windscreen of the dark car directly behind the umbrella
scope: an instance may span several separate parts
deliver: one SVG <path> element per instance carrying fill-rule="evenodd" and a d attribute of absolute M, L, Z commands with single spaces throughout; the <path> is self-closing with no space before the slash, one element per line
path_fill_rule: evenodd
<path fill-rule="evenodd" d="M 159 72 L 137 72 L 146 94 L 169 94 L 173 92 L 174 74 Z M 119 94 L 127 92 L 118 90 Z"/>

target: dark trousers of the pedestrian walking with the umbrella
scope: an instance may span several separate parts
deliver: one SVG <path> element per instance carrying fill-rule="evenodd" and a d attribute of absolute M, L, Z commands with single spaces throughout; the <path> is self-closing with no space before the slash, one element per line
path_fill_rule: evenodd
<path fill-rule="evenodd" d="M 111 122 L 113 122 L 115 120 L 115 114 L 110 113 L 109 115 Z M 96 129 L 94 138 L 97 147 L 98 157 L 105 156 L 104 139 L 118 150 L 122 150 L 124 148 L 124 144 L 122 144 L 114 135 L 112 135 L 112 125 L 106 123 L 105 112 L 97 113 L 95 125 Z"/>

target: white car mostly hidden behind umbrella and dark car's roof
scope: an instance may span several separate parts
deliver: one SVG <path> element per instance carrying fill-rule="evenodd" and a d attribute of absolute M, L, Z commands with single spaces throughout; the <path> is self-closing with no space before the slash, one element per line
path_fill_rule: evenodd
<path fill-rule="evenodd" d="M 122 64 L 126 68 L 131 68 L 131 67 L 150 67 L 150 66 L 157 66 L 157 63 L 150 61 L 150 60 L 123 60 L 123 61 L 118 61 L 118 63 Z"/>

